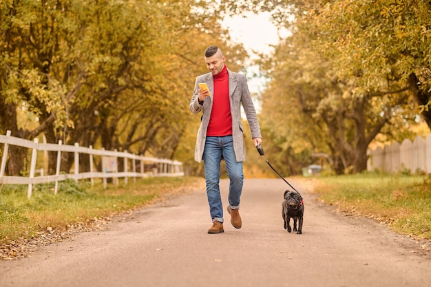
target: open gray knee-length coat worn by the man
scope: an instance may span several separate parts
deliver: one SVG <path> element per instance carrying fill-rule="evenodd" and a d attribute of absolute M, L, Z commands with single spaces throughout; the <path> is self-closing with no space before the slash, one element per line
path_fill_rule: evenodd
<path fill-rule="evenodd" d="M 241 123 L 241 104 L 244 108 L 247 121 L 251 130 L 251 138 L 262 138 L 260 135 L 259 122 L 257 121 L 255 107 L 250 97 L 249 86 L 247 85 L 247 78 L 242 74 L 235 72 L 229 73 L 229 96 L 231 102 L 231 114 L 232 114 L 232 136 L 233 136 L 233 149 L 235 151 L 235 157 L 238 162 L 246 160 L 245 145 L 244 145 L 244 129 Z M 207 83 L 211 96 L 204 99 L 203 105 L 200 105 L 198 99 L 198 83 Z M 190 111 L 193 114 L 198 114 L 202 111 L 202 118 L 200 121 L 200 127 L 198 129 L 198 138 L 196 140 L 195 147 L 195 160 L 197 162 L 202 161 L 204 154 L 205 138 L 207 138 L 207 128 L 209 124 L 209 118 L 211 116 L 211 109 L 213 107 L 213 75 L 211 73 L 203 74 L 196 77 L 195 89 L 193 96 L 190 100 Z"/>

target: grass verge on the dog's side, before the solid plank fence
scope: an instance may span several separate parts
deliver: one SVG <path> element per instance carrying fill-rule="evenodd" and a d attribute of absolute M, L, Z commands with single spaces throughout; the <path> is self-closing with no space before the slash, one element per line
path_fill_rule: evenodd
<path fill-rule="evenodd" d="M 364 173 L 318 178 L 315 191 L 343 211 L 386 222 L 397 233 L 431 240 L 431 177 Z"/>

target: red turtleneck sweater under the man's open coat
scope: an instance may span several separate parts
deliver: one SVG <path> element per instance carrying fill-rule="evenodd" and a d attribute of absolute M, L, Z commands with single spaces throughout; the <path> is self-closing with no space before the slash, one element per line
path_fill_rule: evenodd
<path fill-rule="evenodd" d="M 229 100 L 229 74 L 226 65 L 219 74 L 213 76 L 213 79 L 213 109 L 207 136 L 230 136 L 232 134 L 232 115 Z"/>

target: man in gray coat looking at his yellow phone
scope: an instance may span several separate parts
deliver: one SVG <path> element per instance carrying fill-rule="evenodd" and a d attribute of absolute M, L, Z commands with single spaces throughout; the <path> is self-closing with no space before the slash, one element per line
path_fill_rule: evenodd
<path fill-rule="evenodd" d="M 255 107 L 250 97 L 246 76 L 231 72 L 224 65 L 226 58 L 217 46 L 209 46 L 204 52 L 207 74 L 196 77 L 195 89 L 190 100 L 193 114 L 202 111 L 195 160 L 204 160 L 205 182 L 209 213 L 213 225 L 208 233 L 222 233 L 223 208 L 220 197 L 220 160 L 226 162 L 229 177 L 229 206 L 231 224 L 241 228 L 240 197 L 244 174 L 242 162 L 246 160 L 241 105 L 244 108 L 254 144 L 262 142 Z M 207 83 L 209 90 L 199 87 Z"/>

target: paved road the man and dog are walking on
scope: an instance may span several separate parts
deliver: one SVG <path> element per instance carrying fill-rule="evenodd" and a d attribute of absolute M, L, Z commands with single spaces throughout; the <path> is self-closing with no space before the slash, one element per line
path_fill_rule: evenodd
<path fill-rule="evenodd" d="M 280 179 L 246 179 L 235 229 L 211 226 L 204 190 L 116 220 L 104 231 L 0 262 L 0 286 L 430 286 L 431 259 L 414 240 L 323 206 L 302 180 L 303 234 L 283 228 Z M 222 180 L 224 208 L 227 180 Z"/>

